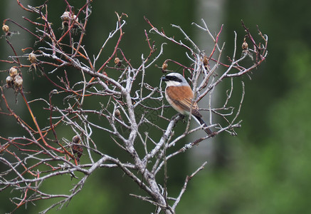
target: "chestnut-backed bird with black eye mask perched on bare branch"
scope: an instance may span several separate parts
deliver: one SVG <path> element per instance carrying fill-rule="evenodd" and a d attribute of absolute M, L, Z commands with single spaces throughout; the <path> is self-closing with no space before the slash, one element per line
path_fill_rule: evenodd
<path fill-rule="evenodd" d="M 198 104 L 193 100 L 194 92 L 184 76 L 180 73 L 169 73 L 167 76 L 162 76 L 161 79 L 167 83 L 165 98 L 169 104 L 182 115 L 189 115 L 191 109 L 191 116 L 204 128 L 208 136 L 214 136 L 214 133 L 203 121 Z"/>

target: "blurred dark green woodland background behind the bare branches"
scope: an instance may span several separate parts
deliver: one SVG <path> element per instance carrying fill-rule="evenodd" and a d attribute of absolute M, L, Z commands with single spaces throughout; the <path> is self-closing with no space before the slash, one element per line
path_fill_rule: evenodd
<path fill-rule="evenodd" d="M 21 2 L 25 5 L 30 4 L 27 1 Z M 31 1 L 31 5 L 42 2 Z M 78 0 L 69 2 L 76 9 L 82 5 Z M 191 23 L 200 23 L 200 19 L 206 15 L 204 11 L 203 14 L 199 14 L 198 6 L 208 3 L 209 6 L 213 6 L 213 2 L 220 4 L 219 12 L 205 21 L 208 25 L 215 22 L 224 24 L 221 38 L 221 41 L 226 41 L 224 56 L 232 54 L 233 31 L 237 32 L 238 41 L 243 41 L 241 19 L 253 35 L 256 34 L 256 25 L 263 34 L 268 35 L 269 54 L 267 60 L 253 71 L 252 80 L 247 76 L 242 78 L 246 83 L 246 97 L 239 117 L 243 120 L 242 128 L 236 130 L 238 136 L 222 133 L 209 142 L 213 148 L 212 153 L 207 151 L 203 158 L 203 161 L 209 160 L 209 163 L 189 183 L 176 213 L 311 213 L 308 136 L 311 125 L 311 1 L 300 1 L 298 4 L 289 0 L 95 0 L 84 43 L 91 54 L 97 53 L 109 32 L 115 29 L 114 12 L 124 12 L 129 18 L 126 19 L 126 34 L 121 47 L 135 66 L 139 64 L 141 54 L 149 54 L 144 37 L 144 29 L 148 30 L 149 26 L 143 16 L 147 16 L 158 29 L 163 27 L 169 35 L 181 36 L 176 29 L 170 27 L 170 24 L 180 25 L 195 40 L 199 31 L 191 26 Z M 60 26 L 59 17 L 63 14 L 61 8 L 65 8 L 63 1 L 49 1 L 51 21 L 57 27 Z M 1 20 L 14 16 L 14 20 L 25 24 L 21 16 L 31 18 L 31 14 L 23 13 L 13 0 L 3 0 L 0 11 Z M 208 11 L 206 10 L 206 13 Z M 220 24 L 211 31 L 217 32 Z M 29 46 L 29 42 L 33 42 L 33 38 L 27 37 L 28 34 L 16 26 L 11 30 L 21 33 L 11 38 L 11 42 L 16 42 L 16 46 Z M 159 47 L 162 39 L 155 35 L 152 35 L 152 39 L 157 41 L 156 45 Z M 111 50 L 114 44 L 110 45 L 107 49 Z M 184 53 L 174 48 L 167 46 L 164 58 L 176 58 L 179 61 L 185 58 Z M 0 49 L 0 58 L 6 59 L 12 55 L 5 39 L 0 39 Z M 108 51 L 107 56 L 109 54 Z M 104 54 L 102 60 L 107 56 Z M 160 64 L 159 61 L 158 65 Z M 0 66 L 0 70 L 5 70 L 10 65 L 0 63 Z M 147 74 L 148 81 L 157 86 L 158 83 L 152 80 L 158 80 L 162 74 L 157 68 L 152 69 Z M 2 85 L 6 75 L 0 74 Z M 31 75 L 26 78 L 33 80 Z M 38 91 L 41 90 L 38 89 L 42 89 L 44 84 L 44 81 L 40 80 L 41 78 L 36 76 L 32 83 L 28 83 L 27 90 L 32 91 L 28 95 L 29 99 L 31 96 L 40 96 Z M 53 88 L 44 89 L 51 91 Z M 223 91 L 226 89 L 223 88 Z M 45 91 L 43 90 L 42 94 L 43 92 Z M 239 94 L 236 93 L 236 102 L 239 98 Z M 15 98 L 11 103 L 16 105 Z M 1 108 L 4 108 L 3 104 Z M 14 110 L 16 113 L 24 112 L 21 105 L 16 105 Z M 39 115 L 36 117 L 40 118 Z M 10 122 L 1 115 L 0 127 L 2 136 L 16 135 L 16 130 L 12 130 L 14 121 Z M 200 148 L 193 148 L 196 149 Z M 169 161 L 169 194 L 176 196 L 186 175 L 192 173 L 203 161 L 194 161 L 191 153 L 184 153 Z M 69 176 L 62 176 L 49 181 L 46 188 L 55 192 L 57 189 L 61 191 L 72 182 L 74 181 L 70 180 Z M 54 209 L 51 213 L 153 212 L 151 205 L 132 198 L 130 193 L 141 192 L 120 170 L 99 169 L 90 176 L 83 190 L 68 206 L 57 212 Z M 9 190 L 0 193 L 0 213 L 9 212 L 14 208 L 8 199 L 9 194 Z M 16 213 L 38 213 L 52 202 L 41 201 L 37 202 L 36 206 L 28 204 L 26 210 L 20 208 Z"/>

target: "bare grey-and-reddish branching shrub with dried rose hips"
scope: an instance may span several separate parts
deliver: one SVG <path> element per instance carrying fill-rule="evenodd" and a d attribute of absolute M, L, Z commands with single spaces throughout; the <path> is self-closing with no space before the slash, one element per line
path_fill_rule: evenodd
<path fill-rule="evenodd" d="M 258 29 L 259 36 L 257 37 L 262 41 L 261 44 L 256 41 L 242 22 L 246 31 L 244 41 L 239 44 L 235 33 L 233 56 L 221 61 L 224 44 L 218 44 L 218 39 L 223 26 L 218 34 L 213 35 L 204 20 L 201 24 L 194 23 L 196 28 L 206 32 L 207 38 L 214 41 L 211 53 L 205 53 L 180 26 L 172 25 L 184 36 L 182 41 L 176 41 L 174 36 L 165 34 L 163 29 L 157 29 L 145 18 L 150 26 L 149 31 L 144 31 L 149 54 L 148 56 L 142 54 L 141 64 L 135 68 L 119 46 L 124 36 L 122 29 L 125 26 L 127 14 L 116 13 L 115 29 L 107 36 L 97 55 L 90 56 L 83 46 L 83 37 L 91 14 L 92 1 L 85 1 L 84 6 L 76 12 L 73 11 L 68 1 L 64 1 L 67 7 L 64 9 L 63 16 L 60 17 L 60 24 L 52 25 L 48 21 L 48 3 L 26 7 L 19 0 L 17 4 L 23 10 L 36 15 L 33 20 L 23 17 L 35 26 L 35 30 L 26 29 L 22 24 L 11 19 L 4 20 L 2 27 L 6 34 L 4 39 L 14 51 L 14 56 L 9 56 L 8 60 L 1 60 L 9 63 L 11 68 L 9 72 L 5 71 L 9 75 L 5 86 L 0 88 L 1 103 L 4 106 L 0 113 L 15 118 L 16 126 L 21 127 L 25 132 L 22 136 L 6 136 L 6 133 L 0 133 L 0 163 L 2 168 L 6 168 L 0 174 L 0 191 L 12 188 L 21 193 L 20 197 L 11 198 L 16 209 L 27 203 L 35 203 L 36 200 L 58 198 L 57 203 L 51 204 L 42 211 L 42 213 L 47 213 L 54 207 L 62 208 L 65 203 L 68 203 L 80 192 L 85 181 L 95 170 L 119 168 L 144 190 L 144 195 L 132 196 L 152 203 L 156 207 L 155 213 L 161 211 L 175 213 L 176 205 L 179 204 L 189 180 L 203 169 L 206 163 L 186 177 L 179 195 L 172 198 L 167 191 L 167 161 L 211 136 L 197 138 L 194 142 L 180 145 L 181 139 L 201 131 L 201 127 L 191 129 L 189 126 L 191 117 L 186 117 L 187 126 L 184 132 L 178 136 L 174 134 L 176 123 L 182 117 L 177 114 L 173 118 L 167 118 L 164 109 L 171 107 L 164 99 L 161 83 L 159 86 L 152 86 L 144 78 L 149 68 L 156 66 L 159 56 L 164 55 L 165 52 L 165 43 L 156 46 L 156 42 L 151 41 L 149 34 L 163 37 L 167 43 L 184 49 L 189 61 L 181 63 L 167 58 L 164 63 L 161 63 L 162 66 L 159 67 L 157 76 L 160 77 L 162 73 L 170 72 L 171 64 L 182 68 L 182 74 L 189 77 L 187 80 L 196 94 L 196 102 L 201 99 L 209 101 L 209 106 L 200 111 L 209 112 L 209 124 L 211 124 L 209 128 L 214 130 L 214 136 L 222 132 L 235 135 L 234 128 L 241 126 L 238 115 L 243 103 L 244 85 L 241 82 L 241 102 L 238 106 L 230 106 L 233 78 L 249 75 L 265 60 L 268 37 L 261 34 Z M 28 32 L 36 39 L 36 44 L 43 45 L 38 46 L 36 50 L 25 47 L 23 51 L 26 54 L 18 54 L 18 51 L 14 49 L 14 44 L 10 41 L 11 34 L 14 34 L 9 30 L 10 24 L 19 26 L 22 31 Z M 57 30 L 56 26 L 60 25 L 63 34 L 56 37 L 54 32 Z M 117 38 L 115 48 L 110 57 L 102 63 L 99 58 L 112 38 Z M 238 46 L 241 45 L 242 53 L 238 51 Z M 248 67 L 241 65 L 246 58 L 253 60 Z M 68 68 L 74 68 L 76 76 L 80 73 L 79 81 L 75 82 L 70 79 Z M 41 97 L 28 101 L 28 93 L 25 93 L 27 88 L 23 87 L 23 76 L 28 71 L 40 78 L 46 78 L 51 83 L 54 89 L 48 93 L 47 99 Z M 51 75 L 55 73 L 58 73 L 56 80 L 51 78 Z M 224 94 L 226 101 L 223 105 L 212 108 L 211 97 L 226 78 L 231 78 L 231 87 Z M 23 118 L 14 112 L 14 107 L 9 105 L 6 91 L 12 89 L 16 96 L 23 98 L 23 103 L 32 118 L 31 123 L 23 121 Z M 57 98 L 63 98 L 63 103 L 56 102 Z M 89 98 L 105 98 L 101 99 L 105 103 L 101 103 L 100 108 L 97 106 L 85 108 L 85 100 Z M 18 104 L 22 105 L 20 102 Z M 46 118 L 48 126 L 43 127 L 38 123 L 36 118 L 38 112 L 33 111 L 35 104 L 48 113 Z M 216 116 L 218 122 L 216 122 Z M 159 123 L 156 118 L 161 118 L 166 123 Z M 145 126 L 149 126 L 147 132 L 144 129 Z M 68 127 L 72 132 L 72 139 L 64 138 L 59 134 L 61 128 Z M 110 156 L 97 148 L 101 142 L 93 138 L 95 129 L 108 133 L 110 139 L 105 142 L 113 143 L 120 151 L 128 153 L 130 161 L 122 161 L 120 157 Z M 157 139 L 150 133 L 159 133 L 162 137 Z M 143 152 L 138 151 L 137 148 L 143 148 Z M 170 152 L 167 151 L 168 148 Z M 77 173 L 82 176 L 77 176 Z M 157 176 L 159 173 L 164 173 L 164 181 L 159 180 Z M 68 195 L 46 193 L 41 189 L 41 185 L 49 178 L 60 175 L 78 179 L 78 183 L 73 186 Z"/>

